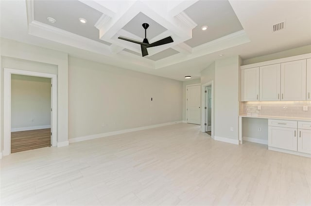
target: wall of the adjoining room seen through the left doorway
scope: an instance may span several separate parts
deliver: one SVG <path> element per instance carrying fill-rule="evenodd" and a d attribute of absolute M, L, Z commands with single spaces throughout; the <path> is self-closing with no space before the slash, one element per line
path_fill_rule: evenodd
<path fill-rule="evenodd" d="M 15 74 L 11 77 L 11 131 L 50 128 L 51 79 Z"/>

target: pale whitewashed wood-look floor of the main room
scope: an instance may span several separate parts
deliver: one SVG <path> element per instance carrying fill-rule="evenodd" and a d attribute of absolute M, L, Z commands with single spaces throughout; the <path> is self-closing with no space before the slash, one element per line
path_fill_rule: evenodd
<path fill-rule="evenodd" d="M 176 124 L 1 160 L 1 204 L 311 205 L 311 158 Z"/>

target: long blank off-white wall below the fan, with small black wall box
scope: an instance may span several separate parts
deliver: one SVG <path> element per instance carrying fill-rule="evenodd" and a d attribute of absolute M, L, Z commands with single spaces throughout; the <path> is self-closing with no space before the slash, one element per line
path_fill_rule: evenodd
<path fill-rule="evenodd" d="M 182 85 L 69 57 L 69 138 L 181 121 Z"/>

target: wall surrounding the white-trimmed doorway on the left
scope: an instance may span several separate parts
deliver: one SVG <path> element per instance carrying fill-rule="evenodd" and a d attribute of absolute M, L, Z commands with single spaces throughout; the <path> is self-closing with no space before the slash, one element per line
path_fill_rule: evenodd
<path fill-rule="evenodd" d="M 3 150 L 3 68 L 57 74 L 57 142 L 68 143 L 68 54 L 1 38 L 0 148 Z"/>

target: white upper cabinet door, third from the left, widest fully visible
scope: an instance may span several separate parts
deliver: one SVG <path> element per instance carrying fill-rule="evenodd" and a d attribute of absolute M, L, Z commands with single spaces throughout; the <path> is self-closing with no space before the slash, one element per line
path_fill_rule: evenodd
<path fill-rule="evenodd" d="M 281 63 L 281 100 L 306 100 L 307 60 Z"/>

